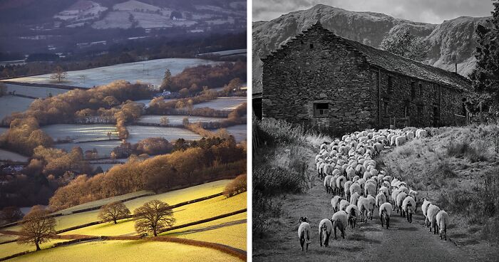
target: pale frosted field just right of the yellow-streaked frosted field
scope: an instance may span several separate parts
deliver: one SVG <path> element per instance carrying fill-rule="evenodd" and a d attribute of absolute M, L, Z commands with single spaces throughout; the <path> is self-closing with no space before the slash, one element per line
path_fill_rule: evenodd
<path fill-rule="evenodd" d="M 126 127 L 130 134 L 127 142 L 135 144 L 148 137 L 164 137 L 169 142 L 183 138 L 185 140 L 200 140 L 202 137 L 195 132 L 178 127 L 145 127 L 140 125 L 128 125 Z"/>

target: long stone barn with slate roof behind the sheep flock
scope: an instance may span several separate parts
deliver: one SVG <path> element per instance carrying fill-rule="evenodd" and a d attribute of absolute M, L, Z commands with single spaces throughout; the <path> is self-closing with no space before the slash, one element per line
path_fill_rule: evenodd
<path fill-rule="evenodd" d="M 457 125 L 467 114 L 467 78 L 341 38 L 319 22 L 262 61 L 254 108 L 263 117 L 346 132 Z"/>

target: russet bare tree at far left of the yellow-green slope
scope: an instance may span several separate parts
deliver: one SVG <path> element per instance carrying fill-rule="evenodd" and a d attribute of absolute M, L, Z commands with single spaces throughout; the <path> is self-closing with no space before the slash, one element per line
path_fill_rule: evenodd
<path fill-rule="evenodd" d="M 56 219 L 48 216 L 50 212 L 41 206 L 33 206 L 22 221 L 21 234 L 18 243 L 34 243 L 36 251 L 40 250 L 40 244 L 47 242 L 50 236 L 56 234 Z"/>

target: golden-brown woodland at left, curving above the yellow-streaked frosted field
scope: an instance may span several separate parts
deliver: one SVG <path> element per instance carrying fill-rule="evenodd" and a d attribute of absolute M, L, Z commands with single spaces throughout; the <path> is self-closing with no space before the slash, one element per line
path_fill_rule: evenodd
<path fill-rule="evenodd" d="M 142 112 L 140 105 L 128 100 L 149 98 L 151 93 L 148 85 L 118 80 L 89 90 L 76 89 L 34 100 L 25 112 L 4 119 L 10 129 L 0 136 L 0 147 L 31 155 L 39 145 L 53 145 L 52 138 L 40 130 L 41 125 L 93 120 L 114 119 L 120 138 L 126 138 L 125 122 L 138 119 Z"/>

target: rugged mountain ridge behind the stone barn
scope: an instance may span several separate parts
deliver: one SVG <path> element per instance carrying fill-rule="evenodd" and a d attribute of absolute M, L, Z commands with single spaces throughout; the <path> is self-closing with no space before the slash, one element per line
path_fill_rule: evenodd
<path fill-rule="evenodd" d="M 459 17 L 441 24 L 418 23 L 396 19 L 386 14 L 355 12 L 319 4 L 311 9 L 294 11 L 271 21 L 253 23 L 253 92 L 262 90 L 260 58 L 287 43 L 290 38 L 318 20 L 322 26 L 339 36 L 379 48 L 385 36 L 408 28 L 424 39 L 428 56 L 423 63 L 468 75 L 475 66 L 475 28 L 487 18 Z"/>

